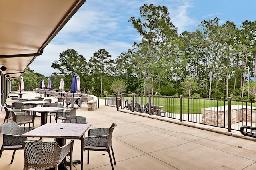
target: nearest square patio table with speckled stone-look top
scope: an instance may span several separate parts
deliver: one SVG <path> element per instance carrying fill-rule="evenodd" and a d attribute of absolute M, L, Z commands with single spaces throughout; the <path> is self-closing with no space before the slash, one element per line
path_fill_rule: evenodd
<path fill-rule="evenodd" d="M 56 142 L 60 146 L 64 146 L 66 139 L 81 140 L 81 160 L 76 163 L 81 163 L 81 170 L 83 170 L 84 158 L 84 133 L 88 130 L 91 124 L 76 124 L 76 123 L 46 123 L 38 128 L 22 134 L 22 137 L 46 137 L 56 138 Z M 80 161 L 80 162 L 79 162 Z M 65 166 L 69 166 L 67 161 L 64 161 Z"/>

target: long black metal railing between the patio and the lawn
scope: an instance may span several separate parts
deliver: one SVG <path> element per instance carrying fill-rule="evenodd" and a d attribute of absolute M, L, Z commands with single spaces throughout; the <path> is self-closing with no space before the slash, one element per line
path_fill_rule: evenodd
<path fill-rule="evenodd" d="M 256 127 L 255 101 L 121 93 L 106 97 L 105 105 L 226 128 L 228 131 L 239 131 L 244 125 Z"/>

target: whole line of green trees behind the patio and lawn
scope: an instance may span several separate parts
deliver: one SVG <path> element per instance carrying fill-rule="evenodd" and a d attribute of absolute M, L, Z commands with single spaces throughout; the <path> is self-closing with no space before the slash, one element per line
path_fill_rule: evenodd
<path fill-rule="evenodd" d="M 246 20 L 238 28 L 232 21 L 220 24 L 214 18 L 202 21 L 194 32 L 178 34 L 166 6 L 145 4 L 140 7 L 140 17 L 132 16 L 128 22 L 141 36 L 132 49 L 116 59 L 99 49 L 89 61 L 67 49 L 52 63 L 60 73 L 46 77 L 46 82 L 50 78 L 58 88 L 62 77 L 68 89 L 75 72 L 80 76 L 81 91 L 94 95 L 123 92 L 248 98 L 248 72 L 256 76 L 256 21 Z M 33 74 L 30 69 L 24 74 L 29 71 Z M 253 90 L 249 91 L 250 99 L 255 98 Z"/>

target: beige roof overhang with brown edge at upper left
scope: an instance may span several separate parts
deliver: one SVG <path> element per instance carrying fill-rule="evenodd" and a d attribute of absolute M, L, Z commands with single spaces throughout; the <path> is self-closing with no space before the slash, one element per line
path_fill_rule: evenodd
<path fill-rule="evenodd" d="M 86 0 L 0 1 L 0 67 L 18 77 Z"/>

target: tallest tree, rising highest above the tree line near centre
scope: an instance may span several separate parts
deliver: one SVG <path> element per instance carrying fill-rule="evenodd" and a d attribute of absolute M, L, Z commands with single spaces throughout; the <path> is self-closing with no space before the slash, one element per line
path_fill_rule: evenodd
<path fill-rule="evenodd" d="M 164 45 L 168 38 L 172 38 L 173 34 L 177 34 L 177 28 L 170 21 L 166 6 L 154 6 L 153 4 L 145 4 L 140 7 L 140 18 L 131 17 L 133 27 L 142 36 L 140 44 L 134 43 L 136 53 L 134 57 L 140 63 L 140 73 L 143 73 L 143 87 L 149 79 L 154 80 L 157 71 L 154 70 L 151 63 L 156 63 L 158 56 L 156 50 L 159 45 Z M 146 94 L 146 89 L 143 91 Z"/>

